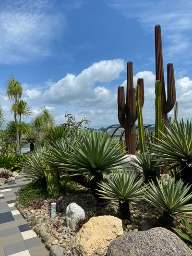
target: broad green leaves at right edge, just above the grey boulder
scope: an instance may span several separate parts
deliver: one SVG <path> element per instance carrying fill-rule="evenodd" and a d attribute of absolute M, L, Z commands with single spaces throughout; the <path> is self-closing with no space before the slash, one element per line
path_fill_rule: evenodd
<path fill-rule="evenodd" d="M 184 230 L 179 230 L 173 228 L 174 231 L 183 239 L 183 241 L 192 249 L 192 224 L 190 224 L 186 218 L 180 218 L 181 223 L 186 228 L 187 232 Z"/>

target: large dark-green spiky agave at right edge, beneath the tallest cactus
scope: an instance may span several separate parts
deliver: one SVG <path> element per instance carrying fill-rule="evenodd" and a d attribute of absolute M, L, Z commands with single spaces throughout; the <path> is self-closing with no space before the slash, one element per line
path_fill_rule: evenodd
<path fill-rule="evenodd" d="M 151 154 L 158 156 L 161 167 L 171 170 L 178 168 L 185 184 L 192 184 L 192 120 L 183 119 L 180 123 L 173 123 L 170 130 L 166 127 L 167 134 L 161 131 L 164 140 L 158 139 L 153 143 Z M 155 160 L 156 161 L 156 160 Z"/>

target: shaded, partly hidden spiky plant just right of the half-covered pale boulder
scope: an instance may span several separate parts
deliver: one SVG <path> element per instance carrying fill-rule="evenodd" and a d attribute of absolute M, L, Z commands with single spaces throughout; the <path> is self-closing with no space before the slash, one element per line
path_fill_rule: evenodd
<path fill-rule="evenodd" d="M 147 152 L 140 153 L 136 158 L 131 158 L 135 164 L 139 165 L 141 169 L 143 169 L 144 183 L 148 183 L 148 181 L 151 180 L 156 183 L 156 177 L 160 177 L 159 162 L 154 162 L 153 159 L 157 160 L 159 158 L 157 156 L 150 155 Z"/>

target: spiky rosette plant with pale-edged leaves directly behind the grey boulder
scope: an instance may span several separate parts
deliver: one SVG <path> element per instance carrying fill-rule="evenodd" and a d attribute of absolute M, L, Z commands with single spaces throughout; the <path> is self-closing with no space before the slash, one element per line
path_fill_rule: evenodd
<path fill-rule="evenodd" d="M 164 177 L 160 181 L 156 178 L 156 181 L 157 186 L 153 181 L 144 185 L 143 197 L 152 206 L 163 210 L 157 225 L 165 227 L 172 223 L 175 215 L 185 217 L 192 214 L 192 204 L 187 204 L 192 199 L 192 193 L 187 194 L 191 185 L 184 185 L 181 179 L 175 181 L 170 177 L 167 185 Z"/>

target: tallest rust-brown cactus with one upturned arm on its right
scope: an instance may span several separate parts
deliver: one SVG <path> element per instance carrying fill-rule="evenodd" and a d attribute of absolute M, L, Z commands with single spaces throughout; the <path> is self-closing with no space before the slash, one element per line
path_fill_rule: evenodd
<path fill-rule="evenodd" d="M 166 99 L 165 80 L 163 70 L 163 52 L 161 41 L 161 26 L 155 26 L 155 48 L 156 48 L 156 80 L 161 83 L 161 119 L 164 119 L 165 125 L 168 127 L 168 112 L 170 112 L 176 101 L 175 77 L 173 64 L 168 63 L 167 76 L 168 76 L 168 96 Z"/>

